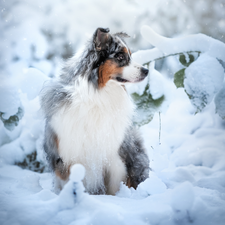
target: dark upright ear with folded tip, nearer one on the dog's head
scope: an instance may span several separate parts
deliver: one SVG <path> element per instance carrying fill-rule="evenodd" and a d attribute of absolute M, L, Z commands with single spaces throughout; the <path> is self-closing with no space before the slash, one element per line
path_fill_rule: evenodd
<path fill-rule="evenodd" d="M 111 35 L 109 34 L 109 28 L 98 28 L 94 34 L 94 44 L 97 51 L 105 51 L 109 49 L 111 42 Z"/>

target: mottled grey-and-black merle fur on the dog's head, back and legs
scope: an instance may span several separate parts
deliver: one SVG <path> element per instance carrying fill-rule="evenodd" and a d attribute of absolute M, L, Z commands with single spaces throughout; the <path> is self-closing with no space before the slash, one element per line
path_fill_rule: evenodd
<path fill-rule="evenodd" d="M 72 104 L 73 93 L 70 91 L 70 87 L 74 85 L 74 82 L 78 81 L 79 77 L 86 78 L 89 85 L 98 92 L 101 88 L 99 83 L 100 67 L 102 65 L 104 66 L 107 60 L 116 63 L 118 68 L 123 68 L 130 64 L 131 59 L 129 52 L 123 55 L 122 60 L 120 55 L 117 56 L 121 54 L 121 51 L 124 51 L 124 38 L 128 37 L 128 35 L 125 33 L 112 35 L 108 32 L 108 29 L 98 28 L 81 56 L 79 58 L 73 57 L 68 60 L 62 69 L 60 77 L 47 83 L 41 92 L 41 106 L 46 118 L 44 150 L 50 168 L 56 175 L 60 176 L 64 183 L 68 180 L 71 165 L 66 164 L 60 156 L 58 135 L 51 125 L 51 120 L 62 107 Z M 141 70 L 142 77 L 147 75 L 147 71 L 144 68 L 139 68 L 137 66 L 136 68 Z M 141 79 L 143 79 L 142 77 Z M 117 72 L 116 76 L 110 77 L 110 79 L 122 83 L 127 81 L 122 77 L 120 72 Z M 127 127 L 123 141 L 117 150 L 117 154 L 126 167 L 126 179 L 123 180 L 123 182 L 125 182 L 128 187 L 136 188 L 140 182 L 144 181 L 149 176 L 149 159 L 140 134 L 132 125 Z M 107 189 L 109 189 L 107 172 L 104 176 L 104 187 L 89 191 L 90 193 L 115 194 L 107 191 Z M 62 187 L 63 185 L 61 184 L 61 188 Z"/>

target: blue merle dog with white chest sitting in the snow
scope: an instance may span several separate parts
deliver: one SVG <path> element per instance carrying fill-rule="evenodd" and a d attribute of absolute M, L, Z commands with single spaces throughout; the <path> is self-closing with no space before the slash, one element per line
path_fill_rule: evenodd
<path fill-rule="evenodd" d="M 124 84 L 140 82 L 148 70 L 132 61 L 120 32 L 98 28 L 79 58 L 69 59 L 60 76 L 41 91 L 45 115 L 43 148 L 60 191 L 76 163 L 86 169 L 90 194 L 115 195 L 149 176 L 149 158 L 132 124 L 134 103 Z"/>

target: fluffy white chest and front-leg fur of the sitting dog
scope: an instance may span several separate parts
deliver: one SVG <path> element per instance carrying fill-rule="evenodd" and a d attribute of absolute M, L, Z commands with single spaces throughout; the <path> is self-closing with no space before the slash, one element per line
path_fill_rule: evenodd
<path fill-rule="evenodd" d="M 94 90 L 86 80 L 80 80 L 71 93 L 71 104 L 51 120 L 59 140 L 60 157 L 64 163 L 85 166 L 84 184 L 90 192 L 104 187 L 105 173 L 119 183 L 126 176 L 118 150 L 133 116 L 130 97 L 114 81 Z M 111 192 L 117 186 L 110 184 Z"/>

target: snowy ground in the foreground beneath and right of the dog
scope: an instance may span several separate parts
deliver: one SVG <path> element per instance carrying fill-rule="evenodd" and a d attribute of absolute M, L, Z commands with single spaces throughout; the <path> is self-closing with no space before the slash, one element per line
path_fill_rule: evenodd
<path fill-rule="evenodd" d="M 183 89 L 164 80 L 169 108 L 141 128 L 150 178 L 116 196 L 52 191 L 52 176 L 2 162 L 0 224 L 224 224 L 225 122 L 213 103 L 195 114 Z M 68 195 L 68 196 L 67 196 Z M 81 197 L 80 197 L 81 196 Z"/>

